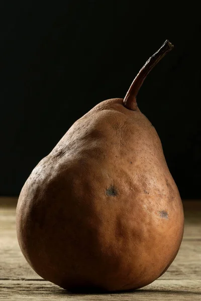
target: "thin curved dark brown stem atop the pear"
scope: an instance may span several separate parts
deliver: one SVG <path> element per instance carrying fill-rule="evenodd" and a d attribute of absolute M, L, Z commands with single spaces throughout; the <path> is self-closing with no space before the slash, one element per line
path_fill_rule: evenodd
<path fill-rule="evenodd" d="M 148 61 L 145 63 L 145 65 L 141 68 L 137 76 L 135 77 L 134 81 L 132 82 L 128 92 L 126 93 L 126 96 L 124 98 L 124 106 L 127 109 L 130 110 L 136 110 L 137 108 L 137 102 L 136 102 L 136 96 L 140 90 L 140 87 L 142 86 L 145 78 L 149 74 L 149 72 L 153 69 L 153 67 L 170 51 L 172 50 L 174 46 L 166 40 L 161 48 L 154 53 Z"/>

